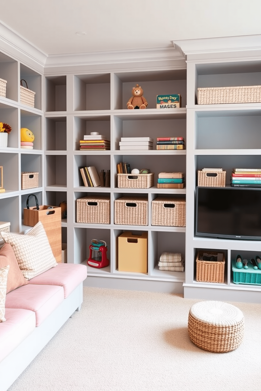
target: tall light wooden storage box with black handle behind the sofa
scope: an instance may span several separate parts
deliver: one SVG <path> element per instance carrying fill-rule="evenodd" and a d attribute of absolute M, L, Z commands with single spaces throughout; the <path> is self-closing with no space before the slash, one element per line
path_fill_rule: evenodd
<path fill-rule="evenodd" d="M 29 197 L 34 196 L 36 206 L 29 207 Z M 52 253 L 56 262 L 62 262 L 61 253 L 61 208 L 59 206 L 49 206 L 38 204 L 35 194 L 29 194 L 26 201 L 27 208 L 23 209 L 23 224 L 31 227 L 41 221 L 48 237 Z"/>

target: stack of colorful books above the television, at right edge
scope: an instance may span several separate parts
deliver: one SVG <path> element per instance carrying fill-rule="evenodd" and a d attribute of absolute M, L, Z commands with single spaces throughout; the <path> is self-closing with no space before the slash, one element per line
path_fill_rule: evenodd
<path fill-rule="evenodd" d="M 232 187 L 261 187 L 261 169 L 234 168 L 230 185 Z"/>

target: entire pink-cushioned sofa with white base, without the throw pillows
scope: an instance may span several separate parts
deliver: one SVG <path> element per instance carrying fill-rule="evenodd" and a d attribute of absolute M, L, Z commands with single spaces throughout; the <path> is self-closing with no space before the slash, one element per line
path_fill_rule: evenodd
<path fill-rule="evenodd" d="M 0 391 L 6 391 L 83 302 L 85 265 L 58 264 L 7 293 L 0 323 Z"/>

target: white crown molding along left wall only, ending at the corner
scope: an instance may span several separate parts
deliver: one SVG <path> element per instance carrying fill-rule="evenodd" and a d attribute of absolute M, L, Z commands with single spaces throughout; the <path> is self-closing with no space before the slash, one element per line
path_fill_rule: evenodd
<path fill-rule="evenodd" d="M 1 48 L 9 56 L 15 56 L 24 64 L 32 67 L 32 62 L 36 68 L 45 66 L 47 54 L 34 47 L 31 42 L 21 37 L 16 31 L 0 21 Z M 30 61 L 31 60 L 31 61 Z"/>

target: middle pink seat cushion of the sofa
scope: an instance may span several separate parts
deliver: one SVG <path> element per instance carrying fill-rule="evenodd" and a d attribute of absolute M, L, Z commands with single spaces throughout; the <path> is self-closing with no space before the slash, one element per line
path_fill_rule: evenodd
<path fill-rule="evenodd" d="M 6 295 L 5 308 L 23 308 L 34 311 L 36 326 L 40 326 L 63 300 L 64 291 L 62 287 L 28 284 Z"/>

